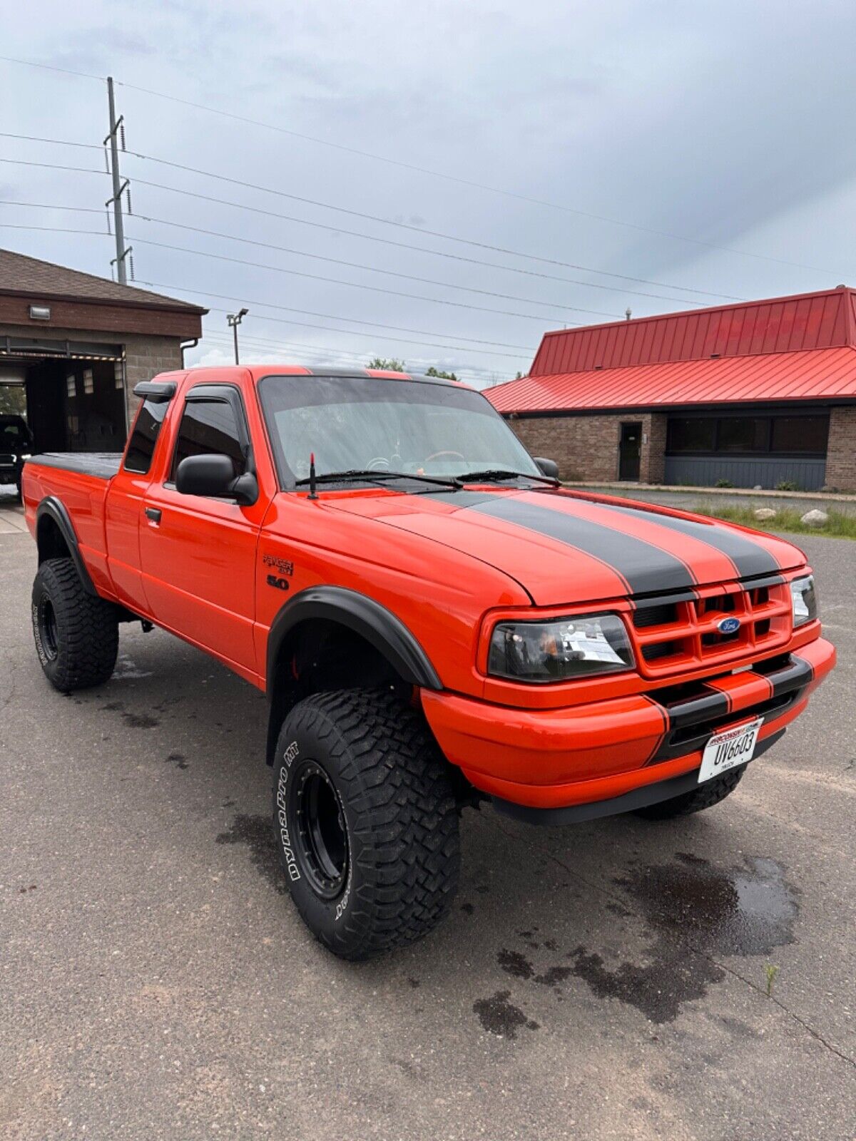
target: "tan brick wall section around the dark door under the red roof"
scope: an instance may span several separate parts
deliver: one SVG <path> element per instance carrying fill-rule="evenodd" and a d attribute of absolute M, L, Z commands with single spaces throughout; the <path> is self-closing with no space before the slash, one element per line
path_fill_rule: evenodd
<path fill-rule="evenodd" d="M 543 455 L 558 463 L 563 479 L 612 483 L 619 478 L 621 424 L 641 422 L 639 479 L 641 483 L 660 483 L 663 478 L 665 420 L 662 413 L 516 416 L 509 420 L 509 424 L 532 455 Z"/>

